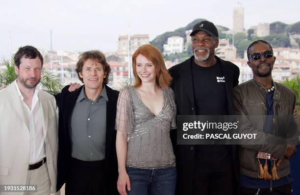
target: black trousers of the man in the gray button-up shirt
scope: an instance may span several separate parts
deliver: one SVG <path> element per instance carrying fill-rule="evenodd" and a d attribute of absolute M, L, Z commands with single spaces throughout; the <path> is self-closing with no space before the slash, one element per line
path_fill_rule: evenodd
<path fill-rule="evenodd" d="M 66 182 L 66 195 L 107 195 L 105 160 L 71 160 L 71 171 Z"/>

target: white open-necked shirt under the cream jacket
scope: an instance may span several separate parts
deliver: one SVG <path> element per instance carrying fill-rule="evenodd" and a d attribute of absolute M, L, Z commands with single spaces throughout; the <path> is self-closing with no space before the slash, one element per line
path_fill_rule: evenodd
<path fill-rule="evenodd" d="M 35 164 L 46 156 L 45 139 L 42 123 L 42 110 L 38 97 L 39 89 L 36 87 L 32 97 L 31 110 L 24 101 L 24 97 L 17 85 L 17 80 L 14 81 L 18 94 L 21 98 L 23 110 L 25 114 L 25 121 L 29 124 L 30 133 L 30 153 L 29 165 Z"/>

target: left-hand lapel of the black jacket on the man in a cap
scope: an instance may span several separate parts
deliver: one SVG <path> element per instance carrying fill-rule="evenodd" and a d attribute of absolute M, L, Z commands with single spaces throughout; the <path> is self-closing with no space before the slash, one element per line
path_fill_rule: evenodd
<path fill-rule="evenodd" d="M 188 60 L 188 63 L 184 64 L 181 67 L 181 73 L 180 77 L 182 78 L 181 80 L 183 81 L 183 85 L 185 88 L 185 91 L 192 102 L 192 104 L 195 103 L 194 101 L 194 87 L 193 87 L 193 77 L 192 77 L 192 67 L 191 67 L 191 60 L 194 58 L 191 57 Z"/>

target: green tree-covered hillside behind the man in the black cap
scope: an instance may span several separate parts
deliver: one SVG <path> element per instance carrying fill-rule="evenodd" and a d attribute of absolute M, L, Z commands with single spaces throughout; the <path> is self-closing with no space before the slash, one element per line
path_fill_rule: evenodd
<path fill-rule="evenodd" d="M 167 44 L 168 37 L 171 36 L 180 36 L 184 38 L 184 42 L 186 42 L 186 30 L 191 30 L 193 26 L 205 19 L 196 19 L 191 23 L 187 24 L 185 27 L 180 27 L 175 29 L 174 31 L 165 32 L 161 35 L 155 37 L 150 44 L 156 46 L 161 52 L 164 51 L 163 45 Z M 232 34 L 225 34 L 224 31 L 227 31 L 229 28 L 221 25 L 217 25 L 216 27 L 219 30 L 219 39 L 229 39 L 229 43 L 232 44 Z M 244 58 L 244 51 L 248 48 L 251 42 L 255 40 L 265 40 L 269 42 L 274 48 L 287 48 L 291 47 L 290 37 L 289 35 L 300 34 L 300 22 L 295 24 L 285 24 L 282 22 L 274 22 L 270 24 L 270 35 L 265 37 L 257 37 L 254 35 L 254 29 L 248 29 L 247 33 L 239 32 L 234 35 L 234 46 L 237 48 L 237 55 L 239 58 Z M 300 46 L 300 39 L 295 39 L 295 41 Z M 170 54 L 169 56 L 164 56 L 166 60 L 174 61 L 178 59 L 183 61 L 193 55 L 191 44 L 187 47 L 187 51 L 183 51 L 181 53 Z"/>

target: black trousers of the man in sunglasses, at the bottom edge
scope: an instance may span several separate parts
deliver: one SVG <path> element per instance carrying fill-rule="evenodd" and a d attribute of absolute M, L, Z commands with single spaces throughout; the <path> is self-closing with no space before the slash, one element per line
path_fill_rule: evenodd
<path fill-rule="evenodd" d="M 251 189 L 251 188 L 240 188 L 241 195 L 292 195 L 293 194 L 293 183 L 279 186 L 272 189 L 270 192 L 269 188 L 263 189 Z"/>

